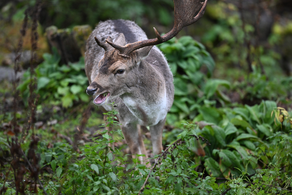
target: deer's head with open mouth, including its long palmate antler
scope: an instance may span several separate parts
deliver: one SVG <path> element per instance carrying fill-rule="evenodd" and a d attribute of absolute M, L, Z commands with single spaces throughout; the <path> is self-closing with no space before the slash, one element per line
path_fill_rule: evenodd
<path fill-rule="evenodd" d="M 96 43 L 105 49 L 104 57 L 98 64 L 98 75 L 88 86 L 86 92 L 95 95 L 94 103 L 103 105 L 107 100 L 127 93 L 129 87 L 138 80 L 137 73 L 140 62 L 147 57 L 152 46 L 166 42 L 180 32 L 180 30 L 199 20 L 205 12 L 207 1 L 200 0 L 174 0 L 175 21 L 173 29 L 160 36 L 154 28 L 155 39 L 143 40 L 126 45 L 124 34 L 119 34 L 112 42 L 108 37 L 106 43 L 100 42 L 96 37 Z M 199 11 L 195 16 L 194 14 Z"/>

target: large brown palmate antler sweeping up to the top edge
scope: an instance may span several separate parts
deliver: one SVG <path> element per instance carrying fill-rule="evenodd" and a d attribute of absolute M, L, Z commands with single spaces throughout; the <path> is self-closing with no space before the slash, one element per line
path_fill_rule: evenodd
<path fill-rule="evenodd" d="M 151 45 L 158 45 L 163 42 L 166 42 L 172 39 L 173 37 L 175 37 L 175 35 L 177 35 L 180 32 L 180 30 L 182 30 L 183 27 L 191 25 L 197 20 L 199 20 L 205 13 L 208 0 L 205 0 L 204 3 L 201 3 L 200 0 L 173 0 L 173 1 L 174 1 L 174 18 L 175 19 L 174 19 L 174 26 L 170 32 L 164 34 L 163 36 L 160 36 L 157 30 L 153 28 L 157 38 L 130 43 L 125 46 L 114 44 L 110 40 L 105 40 L 105 41 L 109 45 L 111 45 L 113 48 L 119 50 L 119 55 L 124 56 L 124 57 L 130 57 L 129 55 L 131 54 L 131 52 L 135 51 L 136 49 L 140 49 L 142 47 L 151 46 Z M 193 18 L 193 15 L 199 9 L 200 9 L 199 13 L 196 15 L 196 17 Z M 97 39 L 95 40 L 98 43 L 98 40 Z M 98 45 L 100 44 L 98 43 Z"/>

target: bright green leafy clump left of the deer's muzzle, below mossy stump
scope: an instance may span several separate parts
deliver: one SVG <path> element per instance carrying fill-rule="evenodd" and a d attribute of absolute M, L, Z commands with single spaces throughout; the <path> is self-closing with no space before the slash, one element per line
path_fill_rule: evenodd
<path fill-rule="evenodd" d="M 44 54 L 44 61 L 35 69 L 37 78 L 36 93 L 40 95 L 39 101 L 54 105 L 62 104 L 63 107 L 72 107 L 74 101 L 89 102 L 89 97 L 84 91 L 88 79 L 84 73 L 84 58 L 79 62 L 68 65 L 59 65 L 60 56 L 55 48 L 53 54 Z M 18 89 L 23 99 L 28 98 L 28 84 L 30 82 L 29 70 L 22 79 Z M 24 103 L 27 101 L 24 101 Z"/>

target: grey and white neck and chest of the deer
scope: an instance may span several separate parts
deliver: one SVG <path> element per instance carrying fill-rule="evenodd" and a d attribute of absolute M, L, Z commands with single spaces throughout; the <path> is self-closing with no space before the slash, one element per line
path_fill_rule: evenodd
<path fill-rule="evenodd" d="M 162 74 L 146 61 L 137 67 L 137 77 L 121 95 L 129 110 L 139 119 L 140 125 L 152 126 L 167 114 L 166 88 Z"/>

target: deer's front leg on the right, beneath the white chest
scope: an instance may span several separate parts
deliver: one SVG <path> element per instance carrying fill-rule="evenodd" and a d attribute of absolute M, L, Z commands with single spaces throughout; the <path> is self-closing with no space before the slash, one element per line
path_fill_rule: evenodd
<path fill-rule="evenodd" d="M 162 130 L 166 118 L 160 120 L 156 125 L 150 127 L 152 150 L 154 154 L 160 154 L 162 148 Z"/>

